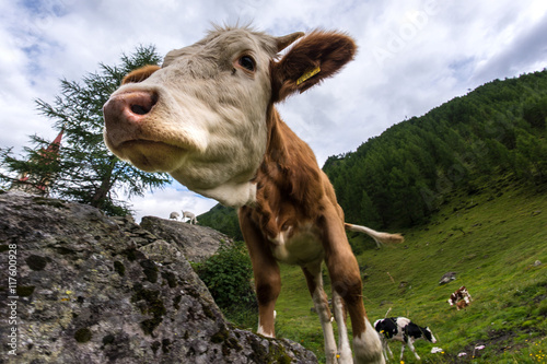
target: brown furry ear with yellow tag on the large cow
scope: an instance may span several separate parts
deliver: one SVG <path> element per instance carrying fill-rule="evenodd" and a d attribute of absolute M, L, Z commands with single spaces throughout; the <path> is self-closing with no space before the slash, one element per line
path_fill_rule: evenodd
<path fill-rule="evenodd" d="M 271 66 L 272 101 L 306 91 L 353 59 L 357 45 L 339 32 L 314 31 Z"/>

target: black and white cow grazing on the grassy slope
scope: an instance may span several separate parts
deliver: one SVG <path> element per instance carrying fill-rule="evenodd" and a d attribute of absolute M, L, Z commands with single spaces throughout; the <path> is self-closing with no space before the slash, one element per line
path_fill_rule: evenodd
<path fill-rule="evenodd" d="M 403 343 L 400 349 L 400 361 L 403 361 L 403 354 L 405 353 L 405 344 L 410 348 L 410 351 L 415 354 L 416 359 L 420 360 L 420 356 L 416 353 L 414 348 L 414 342 L 418 339 L 423 339 L 432 343 L 437 342 L 437 339 L 429 327 L 419 327 L 406 317 L 388 317 L 379 319 L 374 322 L 374 328 L 379 332 L 380 339 L 382 340 L 382 348 L 384 350 L 386 361 L 388 360 L 386 349 L 393 357 L 392 350 L 387 345 L 387 340 L 396 340 Z"/>

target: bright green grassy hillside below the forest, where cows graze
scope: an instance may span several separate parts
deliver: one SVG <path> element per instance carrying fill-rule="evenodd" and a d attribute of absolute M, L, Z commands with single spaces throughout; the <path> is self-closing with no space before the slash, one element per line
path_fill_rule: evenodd
<path fill-rule="evenodd" d="M 392 308 L 389 316 L 429 326 L 439 342 L 416 343 L 424 363 L 472 362 L 480 344 L 485 349 L 475 352 L 474 363 L 546 363 L 547 196 L 497 180 L 472 197 L 454 192 L 452 200 L 427 226 L 404 231 L 403 245 L 377 250 L 372 240 L 353 239 L 364 245 L 358 260 L 370 319 Z M 450 271 L 456 280 L 439 285 Z M 282 275 L 278 336 L 323 357 L 321 326 L 301 270 L 284 266 Z M 474 301 L 457 312 L 446 300 L 461 285 Z M 431 354 L 432 347 L 444 354 Z M 397 362 L 400 344 L 391 348 Z M 458 357 L 461 352 L 467 356 Z M 407 351 L 405 363 L 415 362 Z"/>

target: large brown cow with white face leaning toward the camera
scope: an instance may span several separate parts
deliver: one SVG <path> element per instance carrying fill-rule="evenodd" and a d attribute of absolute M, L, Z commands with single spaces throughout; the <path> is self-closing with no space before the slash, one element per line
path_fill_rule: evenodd
<path fill-rule="evenodd" d="M 364 232 L 381 244 L 404 238 L 345 222 L 312 149 L 275 105 L 334 75 L 356 51 L 353 39 L 337 31 L 277 37 L 248 26 L 214 26 L 196 44 L 170 51 L 161 67 L 127 74 L 103 108 L 104 139 L 114 154 L 143 171 L 167 172 L 190 190 L 238 208 L 259 334 L 275 337 L 279 262 L 302 268 L 329 364 L 352 363 L 346 313 L 356 363 L 384 363 L 345 231 Z M 338 348 L 323 261 L 333 286 Z"/>

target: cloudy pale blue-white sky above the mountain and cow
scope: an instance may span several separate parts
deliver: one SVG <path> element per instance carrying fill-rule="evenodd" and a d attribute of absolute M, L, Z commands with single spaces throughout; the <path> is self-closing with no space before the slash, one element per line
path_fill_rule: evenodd
<path fill-rule="evenodd" d="M 54 103 L 60 80 L 119 64 L 139 45 L 163 56 L 212 24 L 236 23 L 356 39 L 358 55 L 340 73 L 278 107 L 319 165 L 486 82 L 547 67 L 545 0 L 0 0 L 0 148 L 18 154 L 32 134 L 56 137 L 35 101 Z M 129 202 L 137 222 L 217 203 L 177 183 Z"/>

